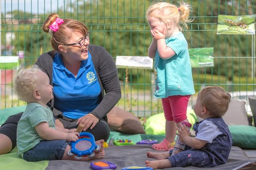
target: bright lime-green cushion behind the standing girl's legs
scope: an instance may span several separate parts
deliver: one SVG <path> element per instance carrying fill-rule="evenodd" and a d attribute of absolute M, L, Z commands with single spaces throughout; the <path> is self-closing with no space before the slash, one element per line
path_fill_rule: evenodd
<path fill-rule="evenodd" d="M 197 117 L 193 109 L 187 111 L 188 121 L 193 125 L 196 123 Z M 146 134 L 163 135 L 165 134 L 165 117 L 164 113 L 150 116 L 145 122 Z"/>

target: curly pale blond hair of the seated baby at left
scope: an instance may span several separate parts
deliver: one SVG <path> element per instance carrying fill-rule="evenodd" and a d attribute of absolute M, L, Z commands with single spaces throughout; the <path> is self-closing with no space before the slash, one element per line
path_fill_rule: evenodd
<path fill-rule="evenodd" d="M 37 73 L 41 71 L 37 65 L 31 69 L 21 70 L 14 80 L 14 92 L 20 100 L 28 102 L 32 92 L 37 88 L 39 77 Z"/>

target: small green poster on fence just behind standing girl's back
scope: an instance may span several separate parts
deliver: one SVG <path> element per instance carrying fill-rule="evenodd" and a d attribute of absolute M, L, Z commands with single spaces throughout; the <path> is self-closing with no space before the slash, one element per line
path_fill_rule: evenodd
<path fill-rule="evenodd" d="M 191 67 L 213 67 L 213 47 L 209 48 L 189 48 Z"/>

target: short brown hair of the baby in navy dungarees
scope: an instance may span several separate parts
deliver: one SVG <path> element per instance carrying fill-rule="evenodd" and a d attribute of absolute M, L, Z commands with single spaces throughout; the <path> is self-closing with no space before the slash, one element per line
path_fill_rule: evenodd
<path fill-rule="evenodd" d="M 199 91 L 197 97 L 213 117 L 225 115 L 231 99 L 230 94 L 220 86 L 207 86 Z"/>

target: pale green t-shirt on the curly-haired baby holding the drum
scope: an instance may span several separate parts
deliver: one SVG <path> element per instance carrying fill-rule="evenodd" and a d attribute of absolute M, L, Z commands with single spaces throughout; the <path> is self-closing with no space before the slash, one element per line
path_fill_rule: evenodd
<path fill-rule="evenodd" d="M 23 153 L 34 148 L 41 138 L 34 128 L 41 122 L 49 123 L 49 127 L 55 129 L 52 110 L 38 103 L 28 103 L 22 114 L 17 128 L 18 154 L 23 157 Z"/>

